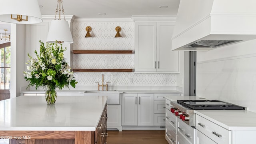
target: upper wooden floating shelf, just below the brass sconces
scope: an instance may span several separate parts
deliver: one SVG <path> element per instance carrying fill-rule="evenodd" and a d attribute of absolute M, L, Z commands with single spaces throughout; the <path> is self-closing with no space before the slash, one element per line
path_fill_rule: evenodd
<path fill-rule="evenodd" d="M 73 54 L 132 54 L 132 50 L 73 50 Z"/>

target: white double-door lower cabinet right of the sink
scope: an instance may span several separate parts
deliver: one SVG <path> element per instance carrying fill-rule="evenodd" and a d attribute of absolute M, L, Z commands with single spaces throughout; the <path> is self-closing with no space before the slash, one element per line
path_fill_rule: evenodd
<path fill-rule="evenodd" d="M 123 94 L 122 126 L 154 126 L 154 94 Z"/>

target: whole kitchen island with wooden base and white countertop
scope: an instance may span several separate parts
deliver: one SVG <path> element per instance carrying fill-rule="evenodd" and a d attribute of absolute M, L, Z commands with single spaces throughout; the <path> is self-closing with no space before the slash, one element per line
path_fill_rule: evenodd
<path fill-rule="evenodd" d="M 44 96 L 0 101 L 0 138 L 11 144 L 94 144 L 106 141 L 107 96 Z"/>

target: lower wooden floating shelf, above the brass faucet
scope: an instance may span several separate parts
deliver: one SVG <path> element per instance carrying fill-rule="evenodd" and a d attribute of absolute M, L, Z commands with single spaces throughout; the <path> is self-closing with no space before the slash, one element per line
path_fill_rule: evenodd
<path fill-rule="evenodd" d="M 73 69 L 73 72 L 133 72 L 133 69 Z"/>

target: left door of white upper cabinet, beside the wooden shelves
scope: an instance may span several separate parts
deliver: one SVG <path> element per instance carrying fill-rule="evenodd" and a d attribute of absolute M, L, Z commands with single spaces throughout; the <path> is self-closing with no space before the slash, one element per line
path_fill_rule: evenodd
<path fill-rule="evenodd" d="M 156 22 L 135 23 L 135 71 L 156 72 L 156 32 Z"/>

